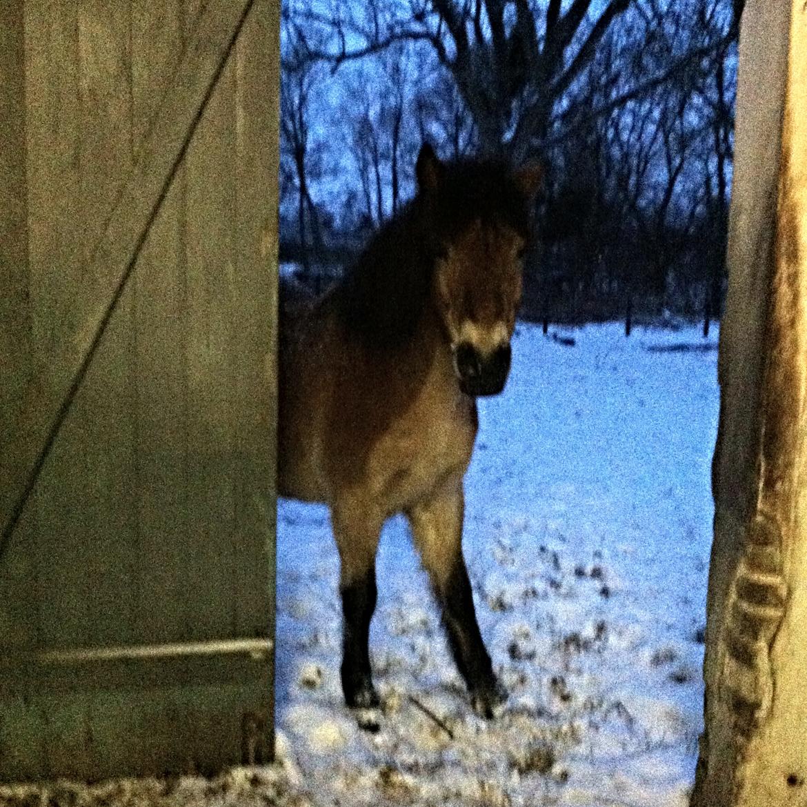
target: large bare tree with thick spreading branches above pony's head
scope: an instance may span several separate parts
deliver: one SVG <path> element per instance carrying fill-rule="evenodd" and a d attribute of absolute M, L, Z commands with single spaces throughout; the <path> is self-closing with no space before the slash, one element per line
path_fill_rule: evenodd
<path fill-rule="evenodd" d="M 307 57 L 335 69 L 401 40 L 429 44 L 473 116 L 480 150 L 521 157 L 546 136 L 558 100 L 631 2 L 609 0 L 595 15 L 592 0 L 572 0 L 565 10 L 561 0 L 370 0 L 323 14 L 300 0 L 285 14 Z"/>

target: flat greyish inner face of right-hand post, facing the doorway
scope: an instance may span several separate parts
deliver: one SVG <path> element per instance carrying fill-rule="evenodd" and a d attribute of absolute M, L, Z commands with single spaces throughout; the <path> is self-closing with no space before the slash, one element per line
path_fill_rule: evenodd
<path fill-rule="evenodd" d="M 781 111 L 788 62 L 789 11 L 780 3 L 750 0 L 743 15 L 738 74 L 725 315 L 721 321 L 718 375 L 721 418 L 713 463 L 715 540 L 709 566 L 709 612 L 721 608 L 733 578 L 740 533 L 755 500 L 765 322 L 776 231 Z M 724 533 L 727 537 L 717 537 Z M 714 605 L 712 604 L 714 603 Z M 707 623 L 710 633 L 721 624 Z M 712 656 L 706 656 L 706 675 Z"/>

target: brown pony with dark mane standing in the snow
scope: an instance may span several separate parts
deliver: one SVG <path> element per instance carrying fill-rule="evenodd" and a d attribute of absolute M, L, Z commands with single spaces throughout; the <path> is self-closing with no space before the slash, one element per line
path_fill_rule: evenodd
<path fill-rule="evenodd" d="M 341 558 L 342 691 L 378 705 L 368 633 L 384 521 L 403 512 L 477 713 L 496 680 L 462 558 L 462 478 L 477 395 L 510 367 L 521 259 L 540 169 L 444 165 L 429 145 L 418 194 L 320 299 L 282 291 L 278 491 L 324 502 Z"/>

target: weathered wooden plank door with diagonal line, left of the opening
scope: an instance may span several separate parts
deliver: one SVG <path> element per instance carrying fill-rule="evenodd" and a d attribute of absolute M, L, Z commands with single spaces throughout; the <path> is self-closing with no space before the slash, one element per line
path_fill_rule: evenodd
<path fill-rule="evenodd" d="M 278 2 L 2 14 L 0 779 L 267 758 Z"/>

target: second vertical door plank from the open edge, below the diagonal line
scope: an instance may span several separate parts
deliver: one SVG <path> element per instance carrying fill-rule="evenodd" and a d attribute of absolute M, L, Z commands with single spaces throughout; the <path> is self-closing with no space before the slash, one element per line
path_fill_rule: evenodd
<path fill-rule="evenodd" d="M 195 639 L 228 635 L 234 629 L 235 76 L 231 60 L 185 161 L 187 503 L 192 543 L 182 571 L 186 635 Z"/>

